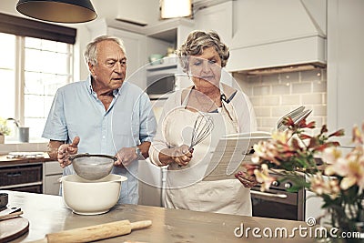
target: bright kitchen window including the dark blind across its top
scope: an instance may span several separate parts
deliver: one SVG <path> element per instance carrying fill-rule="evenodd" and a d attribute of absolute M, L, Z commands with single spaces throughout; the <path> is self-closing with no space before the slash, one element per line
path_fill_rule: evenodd
<path fill-rule="evenodd" d="M 0 24 L 0 116 L 14 117 L 30 127 L 31 140 L 40 139 L 56 89 L 73 81 L 76 30 L 4 14 Z M 6 139 L 16 141 L 16 127 L 8 125 Z"/>

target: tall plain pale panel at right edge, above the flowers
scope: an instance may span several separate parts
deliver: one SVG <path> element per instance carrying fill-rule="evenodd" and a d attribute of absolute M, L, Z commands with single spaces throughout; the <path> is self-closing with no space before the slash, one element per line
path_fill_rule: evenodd
<path fill-rule="evenodd" d="M 328 127 L 351 129 L 364 121 L 364 1 L 328 1 Z"/>

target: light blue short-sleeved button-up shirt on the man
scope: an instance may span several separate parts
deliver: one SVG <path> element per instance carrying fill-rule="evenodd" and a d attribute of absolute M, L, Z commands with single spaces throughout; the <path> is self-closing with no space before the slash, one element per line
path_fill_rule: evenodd
<path fill-rule="evenodd" d="M 138 86 L 129 82 L 114 90 L 111 105 L 105 106 L 86 81 L 59 88 L 45 123 L 42 137 L 71 143 L 78 136 L 78 153 L 115 156 L 122 147 L 136 147 L 152 141 L 157 129 L 150 100 Z M 127 177 L 119 202 L 138 201 L 137 161 L 127 168 L 114 167 L 113 173 Z M 72 165 L 64 175 L 75 174 Z"/>

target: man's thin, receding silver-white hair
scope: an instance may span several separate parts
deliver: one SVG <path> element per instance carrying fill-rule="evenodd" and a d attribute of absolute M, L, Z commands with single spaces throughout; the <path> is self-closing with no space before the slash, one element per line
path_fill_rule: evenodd
<path fill-rule="evenodd" d="M 96 37 L 92 42 L 88 43 L 84 52 L 84 58 L 86 61 L 86 65 L 90 63 L 93 66 L 97 65 L 97 44 L 102 41 L 114 41 L 118 46 L 120 46 L 121 50 L 126 55 L 126 48 L 123 44 L 123 41 L 115 36 L 110 35 L 101 35 Z"/>

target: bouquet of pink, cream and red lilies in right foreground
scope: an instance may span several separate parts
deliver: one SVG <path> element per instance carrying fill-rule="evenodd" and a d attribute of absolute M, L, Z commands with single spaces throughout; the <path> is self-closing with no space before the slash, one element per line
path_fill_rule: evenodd
<path fill-rule="evenodd" d="M 252 162 L 245 165 L 248 175 L 256 178 L 262 191 L 276 180 L 269 172 L 291 180 L 294 186 L 288 190 L 307 188 L 323 199 L 332 227 L 357 230 L 356 223 L 364 221 L 364 123 L 361 130 L 353 128 L 354 147 L 345 156 L 339 142 L 332 141 L 344 135 L 342 129 L 328 134 L 323 126 L 319 135 L 309 136 L 307 131 L 315 128 L 315 122 L 303 119 L 295 124 L 286 117 L 284 124 L 287 130 L 277 130 L 271 139 L 254 146 Z"/>

